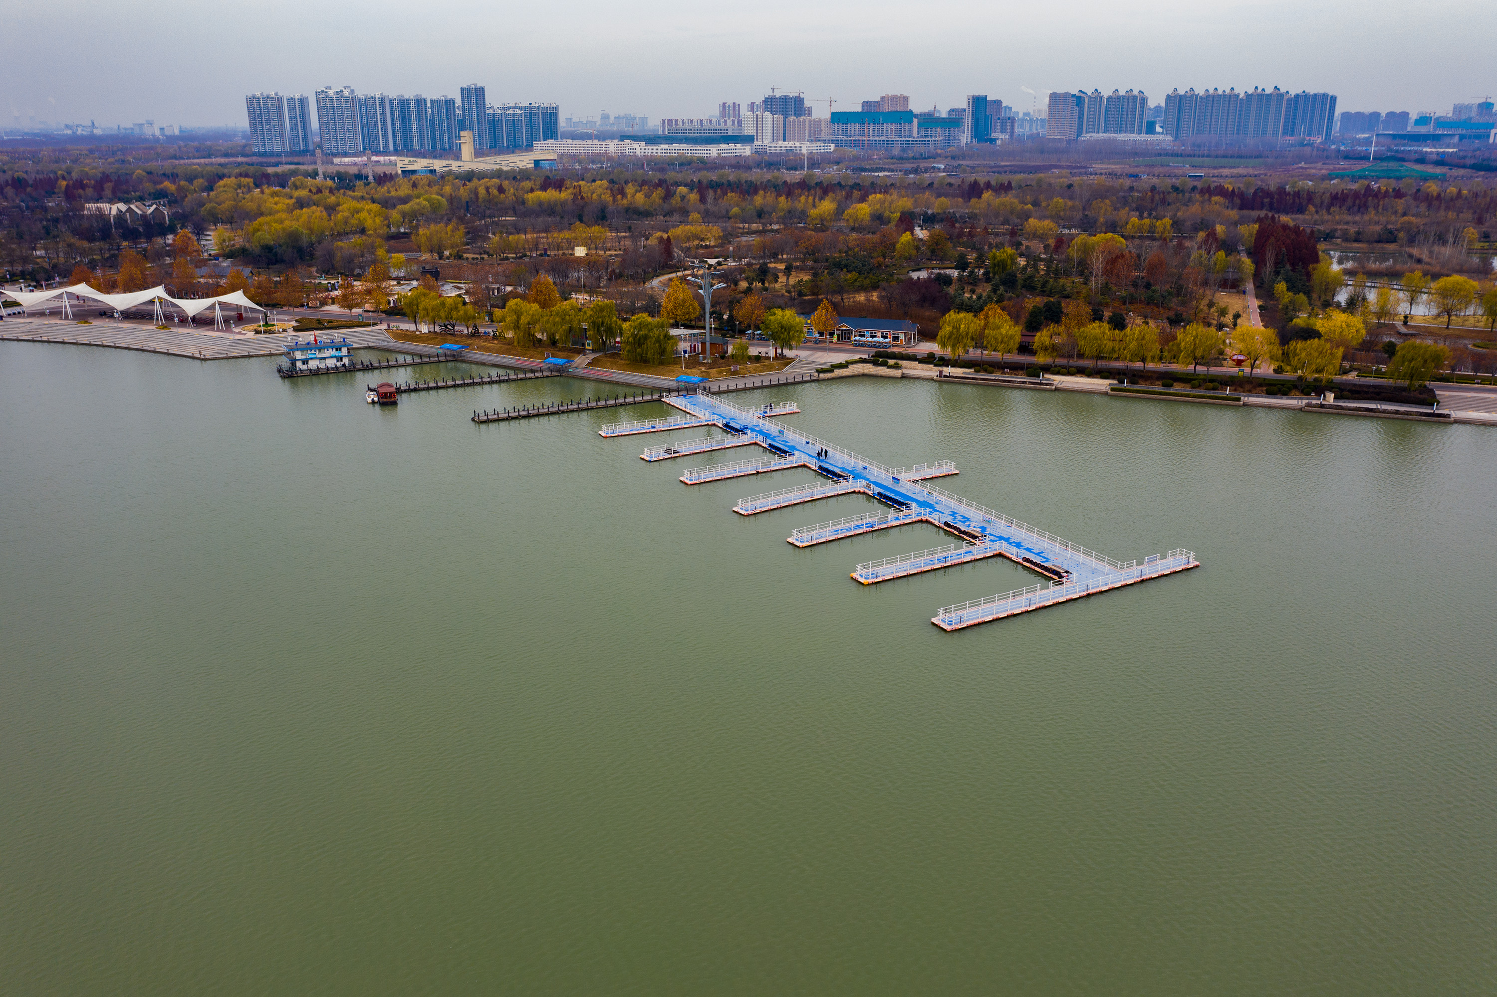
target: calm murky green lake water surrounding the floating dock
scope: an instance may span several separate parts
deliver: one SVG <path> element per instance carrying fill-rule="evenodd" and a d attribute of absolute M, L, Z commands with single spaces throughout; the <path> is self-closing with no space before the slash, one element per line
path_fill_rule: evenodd
<path fill-rule="evenodd" d="M 1497 990 L 1493 430 L 732 397 L 1204 564 L 945 633 L 1034 576 L 274 362 L 0 344 L 6 994 Z"/>

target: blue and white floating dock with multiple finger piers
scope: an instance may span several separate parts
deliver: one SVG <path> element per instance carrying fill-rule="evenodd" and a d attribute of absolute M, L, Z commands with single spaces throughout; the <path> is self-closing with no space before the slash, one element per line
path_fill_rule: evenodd
<path fill-rule="evenodd" d="M 734 512 L 740 515 L 751 516 L 772 509 L 849 494 L 864 494 L 888 506 L 886 512 L 844 516 L 831 522 L 801 527 L 787 537 L 795 546 L 813 546 L 913 522 L 928 522 L 960 540 L 948 546 L 858 564 L 852 578 L 865 585 L 957 567 L 990 557 L 1010 560 L 1048 581 L 1048 585 L 1042 582 L 987 599 L 943 606 L 931 618 L 931 623 L 943 630 L 961 630 L 979 623 L 1003 620 L 1021 612 L 1199 567 L 1196 555 L 1186 549 L 1150 555 L 1142 563 L 1114 560 L 1046 530 L 967 501 L 936 485 L 922 484 L 931 478 L 955 475 L 957 469 L 951 461 L 891 469 L 769 421 L 769 416 L 787 415 L 789 406 L 774 410 L 765 406 L 750 410 L 705 392 L 660 400 L 683 415 L 653 422 L 605 427 L 603 436 L 717 425 L 723 428 L 726 436 L 654 446 L 641 454 L 641 458 L 657 461 L 738 446 L 762 446 L 771 454 L 769 460 L 690 469 L 681 475 L 681 481 L 687 485 L 792 467 L 810 469 L 826 479 L 819 484 L 796 485 L 740 498 L 734 506 Z"/>

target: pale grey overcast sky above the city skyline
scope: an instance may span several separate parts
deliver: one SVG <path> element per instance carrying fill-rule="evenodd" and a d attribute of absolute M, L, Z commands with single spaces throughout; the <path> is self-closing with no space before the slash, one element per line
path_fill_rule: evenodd
<path fill-rule="evenodd" d="M 344 84 L 457 97 L 479 82 L 491 103 L 651 120 L 708 117 L 769 87 L 837 111 L 882 93 L 943 109 L 987 93 L 1016 112 L 1028 91 L 1043 112 L 1048 91 L 1079 88 L 1159 103 L 1174 87 L 1277 85 L 1335 93 L 1340 111 L 1449 111 L 1497 93 L 1493 0 L 16 4 L 0 114 L 22 121 L 243 126 L 246 93 Z"/>

